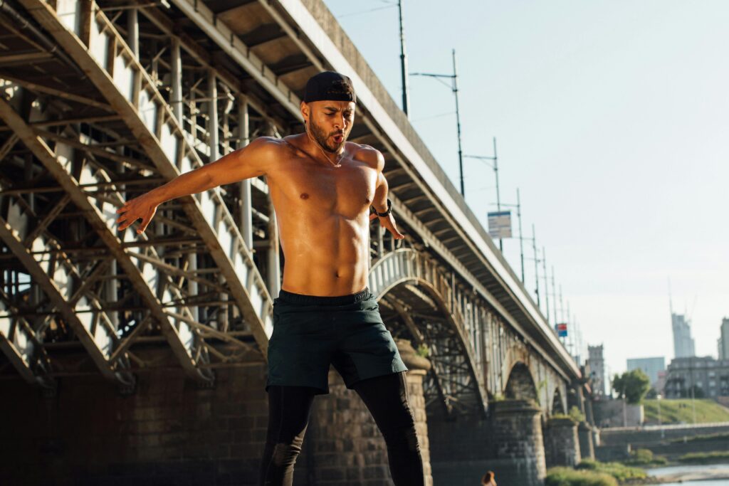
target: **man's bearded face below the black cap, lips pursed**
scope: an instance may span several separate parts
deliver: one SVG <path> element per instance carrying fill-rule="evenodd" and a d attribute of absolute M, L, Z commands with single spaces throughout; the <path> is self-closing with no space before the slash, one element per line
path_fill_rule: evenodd
<path fill-rule="evenodd" d="M 302 103 L 301 112 L 311 136 L 327 152 L 343 148 L 354 122 L 353 101 L 312 101 Z"/>

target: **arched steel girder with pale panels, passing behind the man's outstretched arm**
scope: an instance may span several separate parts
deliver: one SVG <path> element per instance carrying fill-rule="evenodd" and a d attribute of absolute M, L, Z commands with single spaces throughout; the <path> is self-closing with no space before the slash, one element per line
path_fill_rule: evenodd
<path fill-rule="evenodd" d="M 182 129 L 157 81 L 93 1 L 59 0 L 58 10 L 42 0 L 20 1 L 120 114 L 163 178 L 202 165 L 195 138 Z M 214 189 L 181 201 L 265 354 L 273 302 L 221 192 Z"/>

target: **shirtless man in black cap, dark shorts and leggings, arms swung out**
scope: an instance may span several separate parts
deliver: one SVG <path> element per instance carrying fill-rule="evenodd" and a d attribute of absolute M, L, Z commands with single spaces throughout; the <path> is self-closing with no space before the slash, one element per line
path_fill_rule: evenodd
<path fill-rule="evenodd" d="M 407 368 L 367 289 L 370 220 L 379 217 L 394 238 L 404 237 L 390 213 L 382 154 L 346 141 L 355 106 L 348 77 L 316 74 L 301 103 L 305 133 L 257 138 L 117 211 L 119 230 L 141 219 L 141 233 L 165 201 L 266 176 L 285 265 L 268 346 L 269 422 L 260 475 L 265 486 L 292 485 L 313 397 L 329 393 L 330 364 L 370 409 L 387 444 L 395 485 L 424 484 Z"/>

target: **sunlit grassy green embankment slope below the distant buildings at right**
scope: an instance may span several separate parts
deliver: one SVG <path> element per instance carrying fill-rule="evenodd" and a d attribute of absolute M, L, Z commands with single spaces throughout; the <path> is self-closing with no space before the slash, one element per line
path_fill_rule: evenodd
<path fill-rule="evenodd" d="M 729 422 L 729 408 L 711 399 L 696 399 L 696 423 Z M 643 400 L 645 423 L 658 424 L 658 400 Z M 691 399 L 663 399 L 660 401 L 661 423 L 693 423 Z"/>

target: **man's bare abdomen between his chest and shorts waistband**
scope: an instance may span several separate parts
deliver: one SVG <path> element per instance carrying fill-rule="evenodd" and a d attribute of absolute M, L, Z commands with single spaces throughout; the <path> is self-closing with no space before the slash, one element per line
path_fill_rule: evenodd
<path fill-rule="evenodd" d="M 369 219 L 307 211 L 278 219 L 285 291 L 322 297 L 356 294 L 367 286 Z"/>

